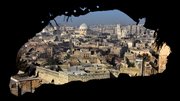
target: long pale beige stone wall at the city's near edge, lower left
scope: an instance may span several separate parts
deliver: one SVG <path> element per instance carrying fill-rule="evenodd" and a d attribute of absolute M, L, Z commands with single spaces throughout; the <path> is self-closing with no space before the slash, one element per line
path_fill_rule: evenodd
<path fill-rule="evenodd" d="M 110 78 L 110 72 L 109 71 L 104 71 L 104 72 L 99 72 L 99 73 L 87 73 L 83 75 L 75 75 L 75 74 L 67 74 L 65 72 L 56 72 L 52 71 L 49 69 L 45 69 L 42 67 L 37 67 L 36 68 L 36 74 L 38 77 L 41 79 L 47 81 L 48 83 L 53 83 L 54 84 L 64 84 L 68 83 L 70 81 L 88 81 L 88 80 L 93 80 L 93 79 L 106 79 Z"/>

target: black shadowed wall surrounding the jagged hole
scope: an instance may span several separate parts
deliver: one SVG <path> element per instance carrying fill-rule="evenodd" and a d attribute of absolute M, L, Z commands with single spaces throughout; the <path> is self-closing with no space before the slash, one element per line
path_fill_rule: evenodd
<path fill-rule="evenodd" d="M 173 1 L 163 1 L 161 3 L 148 0 L 130 1 L 130 0 L 51 0 L 44 1 L 6 1 L 1 3 L 1 20 L 3 23 L 1 37 L 1 73 L 0 77 L 3 82 L 0 86 L 0 95 L 10 96 L 9 80 L 10 77 L 17 73 L 16 57 L 20 47 L 31 37 L 44 28 L 50 20 L 57 15 L 65 14 L 67 16 L 79 16 L 87 14 L 89 11 L 103 11 L 118 9 L 138 22 L 139 18 L 146 18 L 145 27 L 157 31 L 157 43 L 159 46 L 166 42 L 170 46 L 172 53 L 168 57 L 167 69 L 163 74 L 150 77 L 129 78 L 122 76 L 113 80 L 94 80 L 87 83 L 73 82 L 65 85 L 42 85 L 37 89 L 35 94 L 25 94 L 19 98 L 28 96 L 53 96 L 64 97 L 65 95 L 77 97 L 86 96 L 119 96 L 121 93 L 133 94 L 164 89 L 173 89 L 176 87 L 178 80 L 178 56 L 179 49 L 179 29 L 175 24 L 179 22 L 178 6 Z M 13 5 L 9 5 L 9 3 Z M 99 6 L 99 8 L 97 8 Z M 172 7 L 169 7 L 172 6 Z M 84 11 L 81 8 L 87 8 Z M 6 10 L 5 10 L 6 9 Z M 77 12 L 74 13 L 73 10 Z M 42 23 L 43 22 L 43 23 Z M 3 39 L 6 39 L 4 41 Z M 8 42 L 8 43 L 7 43 Z M 171 82 L 167 86 L 167 83 Z M 143 86 L 143 87 L 142 87 Z M 145 87 L 145 89 L 144 89 Z M 150 89 L 153 87 L 154 89 Z M 146 89 L 147 88 L 147 89 Z M 108 91 L 109 90 L 109 91 Z M 176 89 L 175 89 L 176 90 Z M 90 93 L 92 91 L 93 93 Z M 118 91 L 117 93 L 115 91 Z M 122 91 L 122 92 L 121 92 Z M 162 91 L 163 92 L 163 91 Z M 153 94 L 154 95 L 154 94 Z M 100 96 L 99 96 L 100 97 Z M 87 99 L 88 99 L 87 98 Z"/>

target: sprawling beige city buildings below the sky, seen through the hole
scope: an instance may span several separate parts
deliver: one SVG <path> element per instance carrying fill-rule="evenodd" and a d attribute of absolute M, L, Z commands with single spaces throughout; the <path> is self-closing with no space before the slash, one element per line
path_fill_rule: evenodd
<path fill-rule="evenodd" d="M 19 72 L 10 89 L 17 96 L 42 84 L 130 77 L 162 73 L 170 48 L 160 50 L 154 30 L 143 24 L 49 24 L 19 50 Z"/>

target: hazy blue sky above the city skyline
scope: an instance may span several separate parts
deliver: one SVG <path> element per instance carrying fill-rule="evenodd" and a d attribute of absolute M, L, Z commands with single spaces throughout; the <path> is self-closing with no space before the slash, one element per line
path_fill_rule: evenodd
<path fill-rule="evenodd" d="M 82 15 L 79 17 L 70 17 L 69 21 L 66 22 L 64 20 L 65 17 L 58 16 L 55 18 L 57 23 L 59 24 L 67 24 L 72 26 L 79 26 L 82 23 L 86 23 L 87 25 L 93 25 L 93 24 L 122 24 L 122 25 L 128 25 L 128 24 L 136 24 L 135 21 L 133 21 L 129 16 L 127 16 L 125 13 L 119 11 L 119 10 L 110 10 L 110 11 L 97 11 L 97 12 L 90 12 L 86 15 Z M 141 21 L 144 22 L 144 19 Z M 53 21 L 52 21 L 53 23 Z"/>

